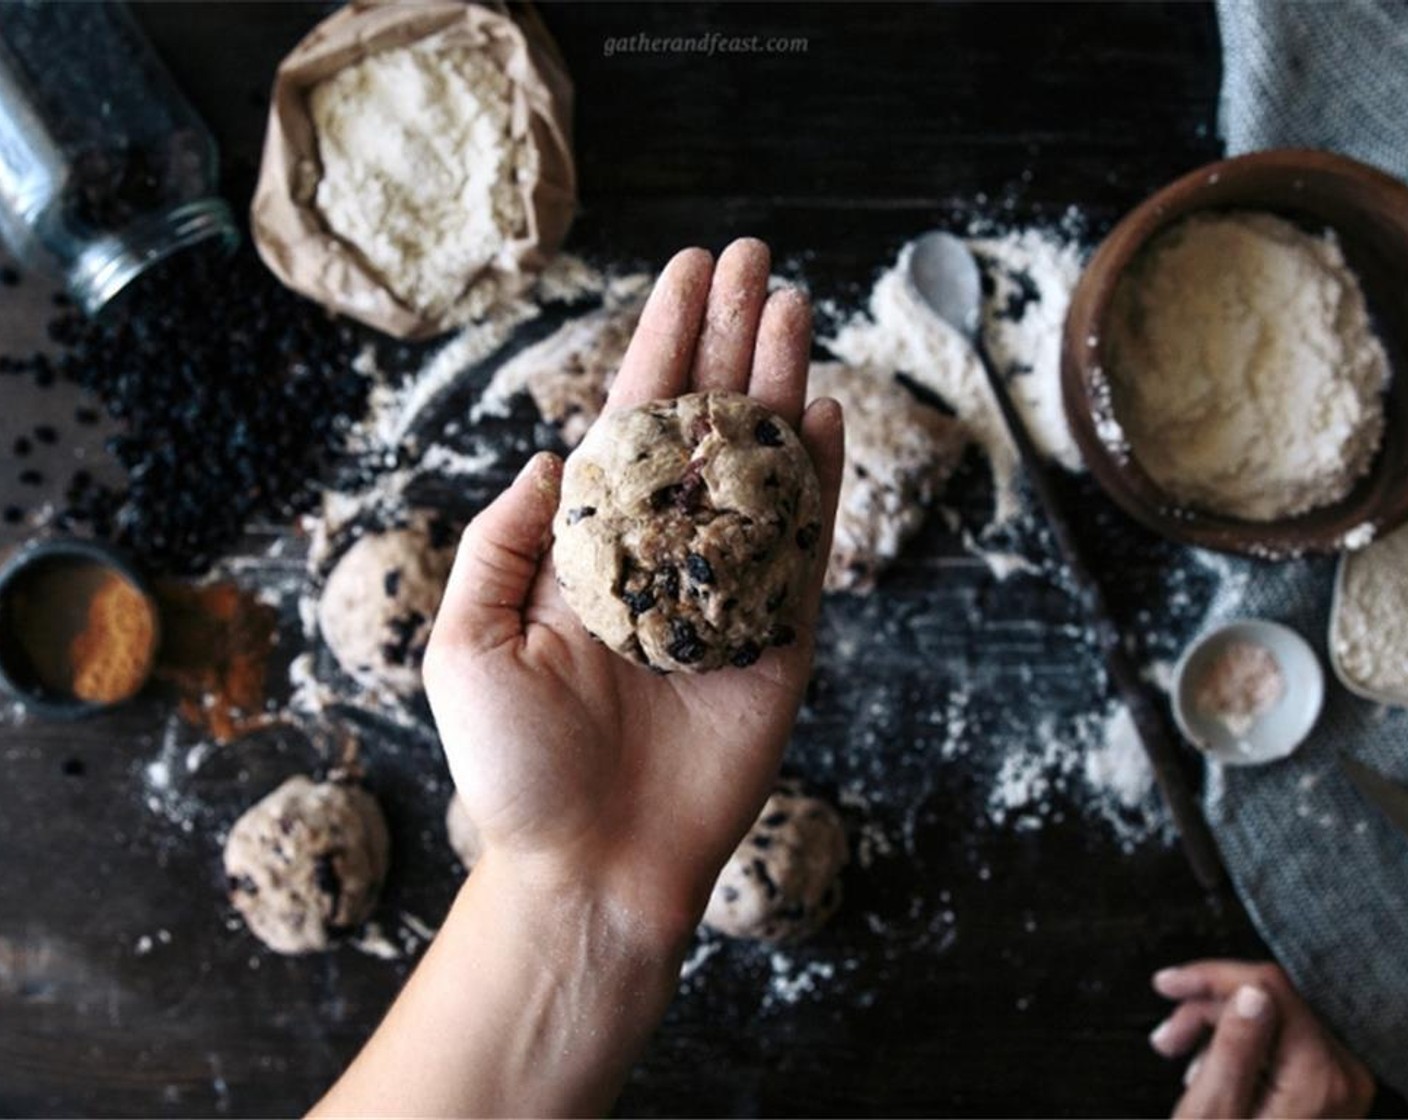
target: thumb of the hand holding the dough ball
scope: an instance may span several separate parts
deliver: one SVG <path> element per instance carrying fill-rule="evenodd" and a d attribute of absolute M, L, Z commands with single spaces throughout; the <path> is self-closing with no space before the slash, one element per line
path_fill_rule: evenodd
<path fill-rule="evenodd" d="M 483 652 L 522 634 L 524 606 L 548 551 L 560 487 L 562 459 L 541 451 L 469 523 L 435 616 L 432 648 Z"/>

